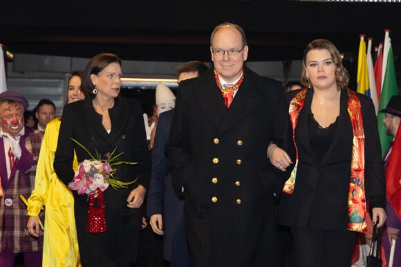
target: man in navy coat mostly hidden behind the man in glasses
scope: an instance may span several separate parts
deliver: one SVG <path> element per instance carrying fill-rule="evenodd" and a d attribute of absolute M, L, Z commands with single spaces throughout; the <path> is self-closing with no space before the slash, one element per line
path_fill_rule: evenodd
<path fill-rule="evenodd" d="M 178 84 L 198 77 L 207 70 L 200 61 L 189 61 L 176 68 Z M 163 236 L 163 257 L 171 267 L 188 266 L 188 246 L 185 237 L 184 201 L 178 198 L 167 173 L 166 143 L 169 140 L 174 109 L 159 114 L 152 149 L 152 169 L 147 196 L 147 216 L 153 232 Z"/>

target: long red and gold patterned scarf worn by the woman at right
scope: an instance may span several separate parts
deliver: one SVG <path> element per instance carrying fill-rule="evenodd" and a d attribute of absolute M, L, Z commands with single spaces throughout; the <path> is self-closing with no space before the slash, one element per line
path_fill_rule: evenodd
<path fill-rule="evenodd" d="M 366 228 L 366 199 L 364 190 L 364 173 L 365 173 L 365 136 L 364 123 L 362 120 L 361 102 L 357 94 L 350 89 L 348 91 L 348 114 L 353 127 L 353 150 L 351 158 L 351 180 L 348 192 L 348 230 L 365 232 Z M 290 119 L 292 124 L 292 140 L 295 145 L 297 159 L 295 167 L 292 169 L 290 178 L 283 187 L 283 192 L 292 194 L 295 188 L 295 178 L 297 176 L 298 167 L 298 149 L 295 142 L 295 128 L 297 127 L 299 113 L 304 108 L 306 93 L 308 89 L 304 89 L 297 93 L 290 102 Z"/>

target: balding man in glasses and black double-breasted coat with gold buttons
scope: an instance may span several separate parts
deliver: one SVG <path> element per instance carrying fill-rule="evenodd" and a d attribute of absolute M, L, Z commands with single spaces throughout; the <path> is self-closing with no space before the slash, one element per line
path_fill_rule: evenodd
<path fill-rule="evenodd" d="M 191 267 L 277 266 L 273 194 L 283 181 L 266 150 L 281 144 L 288 116 L 281 84 L 243 66 L 248 49 L 241 27 L 217 26 L 214 68 L 178 88 L 167 156 L 185 196 Z"/>

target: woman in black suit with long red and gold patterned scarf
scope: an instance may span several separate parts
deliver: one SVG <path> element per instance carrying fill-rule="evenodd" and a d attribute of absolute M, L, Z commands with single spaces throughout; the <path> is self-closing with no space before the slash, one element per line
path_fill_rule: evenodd
<path fill-rule="evenodd" d="M 377 226 L 386 220 L 375 109 L 370 98 L 347 89 L 348 72 L 328 40 L 306 47 L 301 81 L 306 88 L 289 93 L 294 163 L 279 223 L 291 228 L 295 266 L 350 266 L 355 232 L 366 230 L 366 203 Z M 279 169 L 288 162 L 272 159 Z"/>

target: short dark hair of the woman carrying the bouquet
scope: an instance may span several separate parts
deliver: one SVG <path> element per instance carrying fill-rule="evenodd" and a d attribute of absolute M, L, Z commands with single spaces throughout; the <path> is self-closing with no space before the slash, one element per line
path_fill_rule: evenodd
<path fill-rule="evenodd" d="M 91 74 L 99 74 L 111 63 L 118 63 L 121 66 L 120 57 L 111 53 L 101 53 L 91 58 L 91 60 L 88 62 L 88 65 L 86 65 L 84 78 L 82 79 L 81 85 L 82 91 L 85 95 L 91 95 L 92 97 L 95 96 L 95 94 L 93 94 L 95 85 L 91 81 Z"/>

